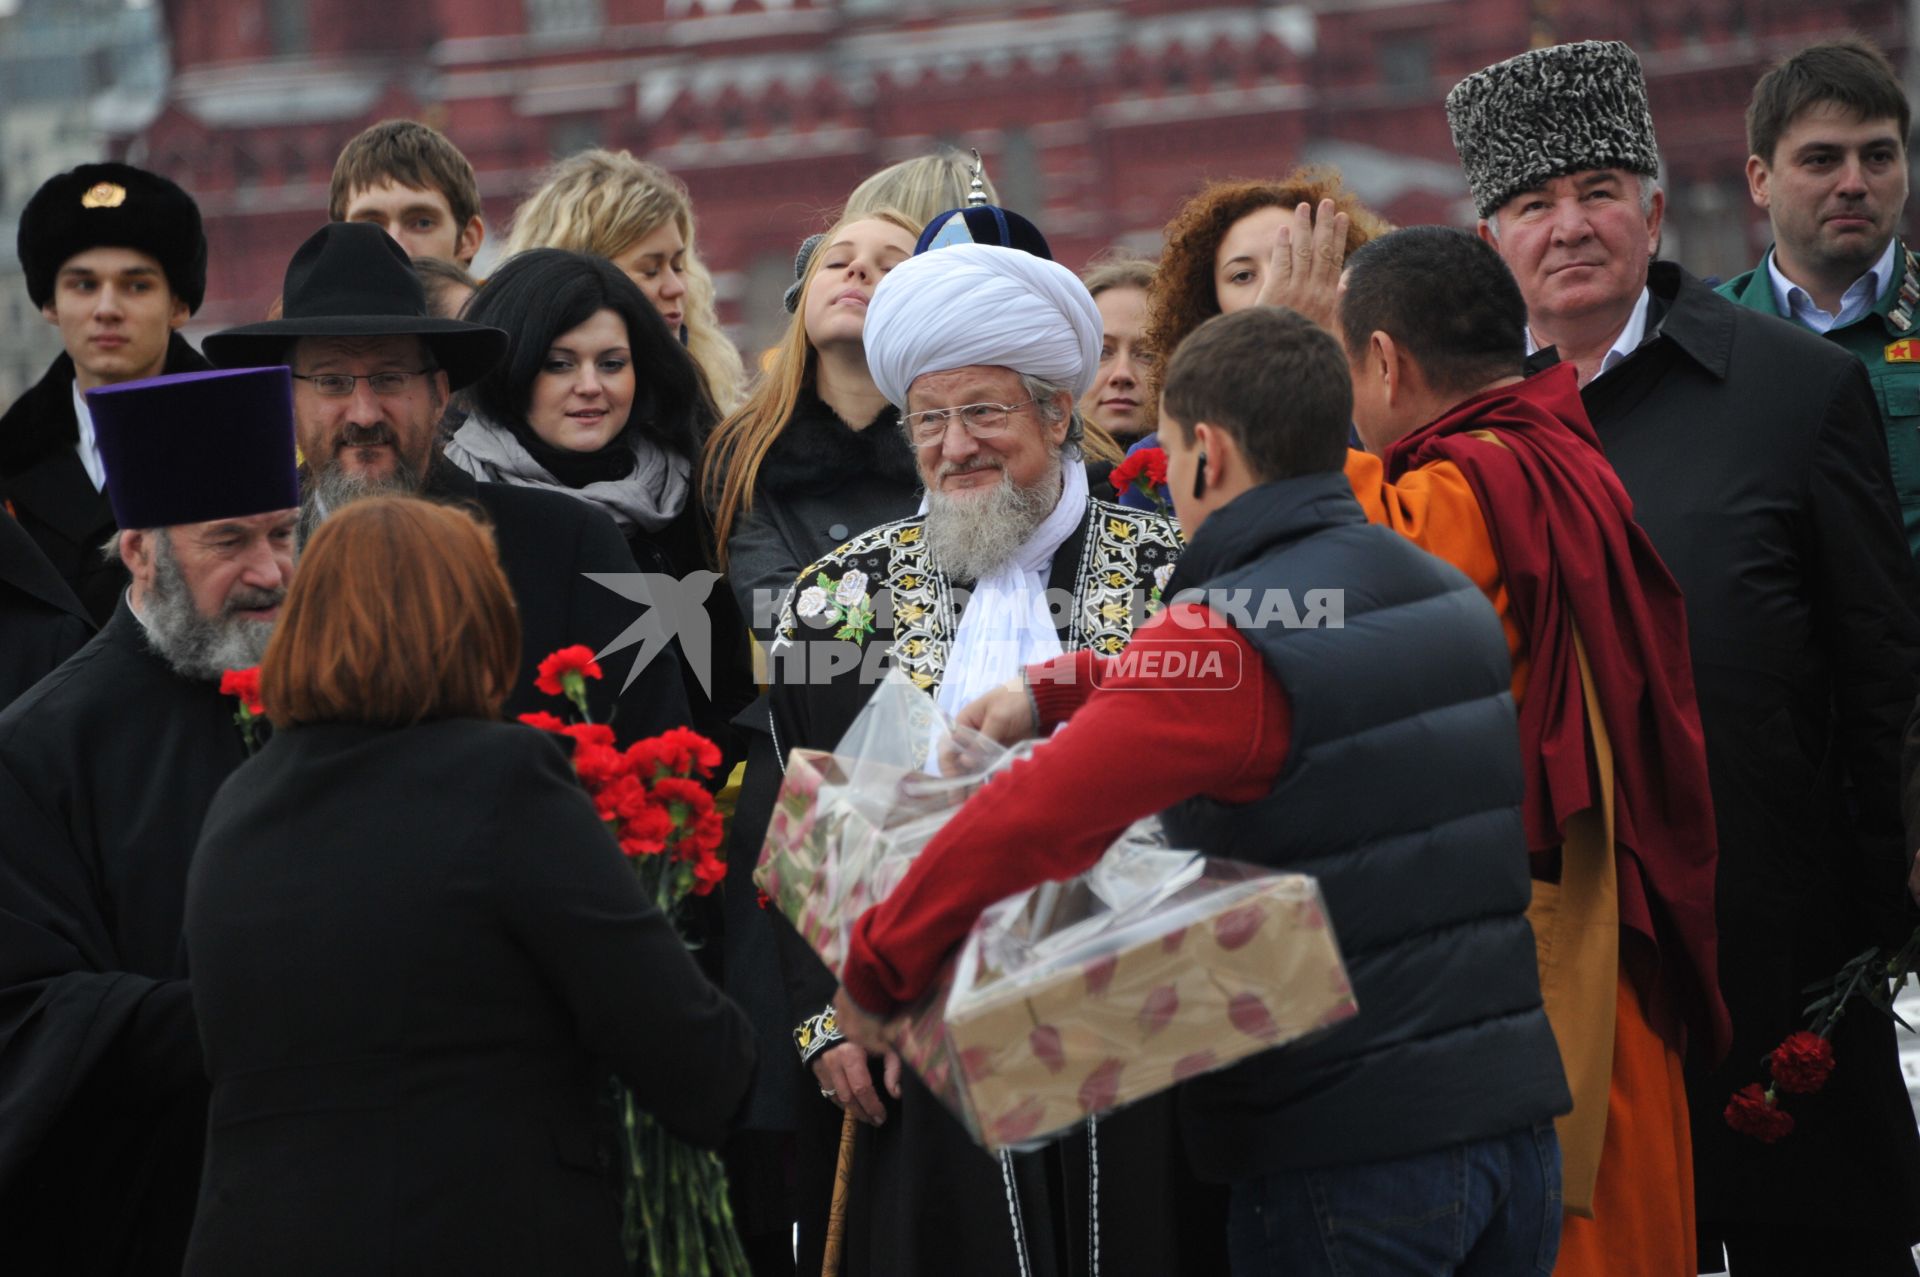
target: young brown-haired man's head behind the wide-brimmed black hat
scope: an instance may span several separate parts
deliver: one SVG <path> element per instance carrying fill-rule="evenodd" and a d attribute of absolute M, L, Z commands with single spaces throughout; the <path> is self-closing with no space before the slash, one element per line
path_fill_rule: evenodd
<path fill-rule="evenodd" d="M 382 119 L 346 144 L 326 217 L 372 223 L 409 257 L 461 267 L 474 263 L 486 238 L 474 167 L 444 133 L 415 119 Z"/>

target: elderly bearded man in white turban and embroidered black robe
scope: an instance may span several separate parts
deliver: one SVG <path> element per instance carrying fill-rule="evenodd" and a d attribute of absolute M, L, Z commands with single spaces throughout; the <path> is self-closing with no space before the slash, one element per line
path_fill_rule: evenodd
<path fill-rule="evenodd" d="M 1075 403 L 1100 313 L 1066 267 L 987 244 L 910 257 L 874 292 L 866 355 L 925 501 L 795 582 L 770 653 L 781 755 L 831 749 L 889 668 L 956 712 L 1035 661 L 1119 651 L 1181 547 L 1169 518 L 1089 495 Z M 780 931 L 806 1081 L 862 1123 L 847 1273 L 1175 1273 L 1217 1246 L 1219 1208 L 1177 1169 L 1164 1106 L 996 1162 L 895 1058 L 839 1041 L 833 976 Z M 810 1214 L 801 1202 L 803 1256 Z"/>

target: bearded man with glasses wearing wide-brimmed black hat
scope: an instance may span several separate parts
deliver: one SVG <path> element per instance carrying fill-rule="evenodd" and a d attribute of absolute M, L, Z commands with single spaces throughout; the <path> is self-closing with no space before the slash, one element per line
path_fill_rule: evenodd
<path fill-rule="evenodd" d="M 436 319 L 407 253 L 378 227 L 328 223 L 286 267 L 280 319 L 205 340 L 221 367 L 288 363 L 303 457 L 307 524 L 372 492 L 463 501 L 493 524 L 501 566 L 520 605 L 520 680 L 507 712 L 555 709 L 534 687 L 540 661 L 584 643 L 605 649 L 639 609 L 589 572 L 637 572 L 612 520 L 586 501 L 482 484 L 440 455 L 447 396 L 507 353 L 499 328 Z M 657 653 L 626 689 L 624 674 L 589 687 L 595 720 L 616 711 L 622 739 L 687 722 L 680 663 Z"/>

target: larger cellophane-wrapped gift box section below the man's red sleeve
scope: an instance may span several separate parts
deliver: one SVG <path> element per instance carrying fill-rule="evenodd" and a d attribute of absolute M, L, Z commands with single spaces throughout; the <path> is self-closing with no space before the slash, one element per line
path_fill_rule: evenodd
<path fill-rule="evenodd" d="M 1106 874 L 1131 874 L 1133 897 Z M 1119 847 L 987 910 L 899 1048 L 987 1148 L 1085 1118 L 1357 1012 L 1319 885 Z"/>

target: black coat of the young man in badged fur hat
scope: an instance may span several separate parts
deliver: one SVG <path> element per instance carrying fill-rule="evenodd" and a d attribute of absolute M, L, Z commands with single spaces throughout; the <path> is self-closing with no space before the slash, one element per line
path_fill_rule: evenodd
<path fill-rule="evenodd" d="M 179 332 L 167 342 L 163 373 L 211 369 Z M 113 507 L 94 488 L 75 446 L 73 359 L 60 355 L 0 417 L 0 503 L 40 545 L 54 570 L 81 595 L 94 624 L 106 624 L 127 590 L 127 568 L 100 545 L 113 536 Z"/>

